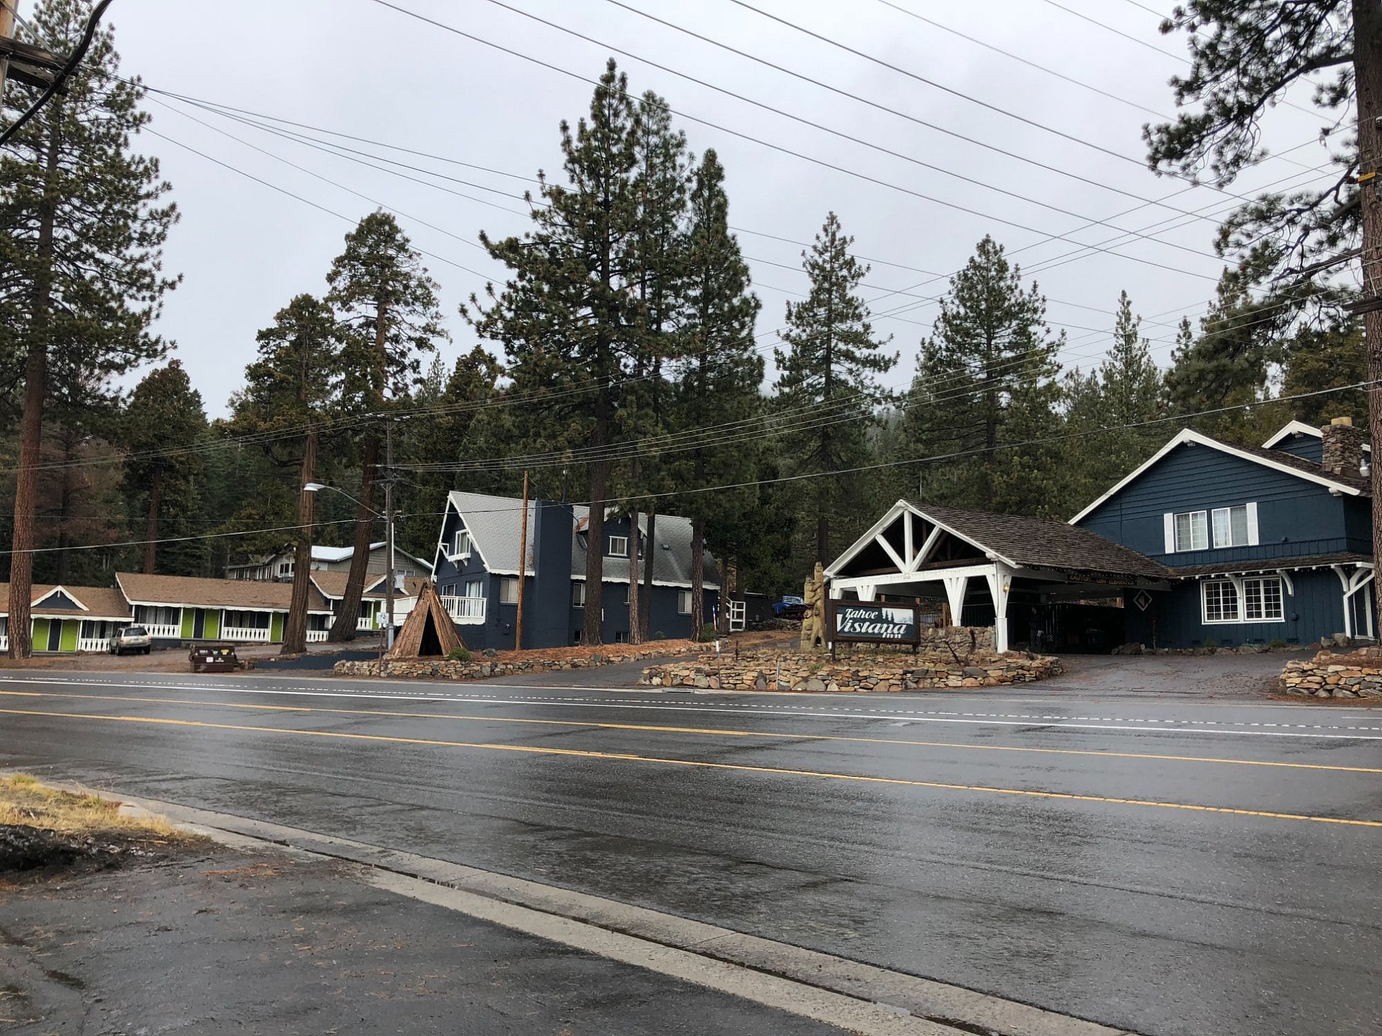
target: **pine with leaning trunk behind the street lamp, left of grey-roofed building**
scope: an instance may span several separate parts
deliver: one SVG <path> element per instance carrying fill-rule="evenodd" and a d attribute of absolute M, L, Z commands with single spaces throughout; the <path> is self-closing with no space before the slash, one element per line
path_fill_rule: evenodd
<path fill-rule="evenodd" d="M 422 370 L 420 354 L 446 338 L 437 308 L 437 283 L 392 214 L 377 210 L 346 235 L 346 250 L 326 275 L 326 301 L 351 334 L 346 348 L 346 398 L 362 414 L 380 414 L 390 398 L 409 392 Z M 355 637 L 373 539 L 375 481 L 379 475 L 377 423 L 366 425 L 361 464 L 355 550 L 340 612 L 329 638 Z"/>

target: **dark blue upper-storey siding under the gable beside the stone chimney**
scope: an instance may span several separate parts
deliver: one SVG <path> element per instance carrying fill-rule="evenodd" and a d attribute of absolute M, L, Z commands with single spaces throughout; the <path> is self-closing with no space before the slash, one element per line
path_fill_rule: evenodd
<path fill-rule="evenodd" d="M 1345 518 L 1350 500 L 1284 471 L 1209 446 L 1186 445 L 1168 453 L 1079 525 L 1172 566 L 1269 561 L 1357 550 L 1350 543 L 1359 543 L 1361 529 L 1357 521 Z M 1168 511 L 1249 501 L 1258 504 L 1258 546 L 1165 553 Z"/>

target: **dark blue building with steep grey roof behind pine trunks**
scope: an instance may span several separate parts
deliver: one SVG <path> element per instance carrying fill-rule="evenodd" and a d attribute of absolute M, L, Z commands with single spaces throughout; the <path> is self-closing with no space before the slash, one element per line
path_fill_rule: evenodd
<path fill-rule="evenodd" d="M 579 504 L 528 501 L 528 551 L 520 561 L 522 500 L 507 496 L 452 492 L 437 540 L 437 590 L 460 635 L 471 649 L 514 646 L 518 619 L 518 580 L 524 584 L 524 648 L 579 644 L 586 624 L 586 554 L 604 554 L 601 580 L 601 640 L 629 638 L 629 519 L 607 515 L 598 544 L 590 543 L 590 512 Z M 691 630 L 691 522 L 659 514 L 654 540 L 647 519 L 640 521 L 643 583 L 652 565 L 652 602 L 648 635 L 680 640 Z M 651 557 L 651 562 L 650 562 Z M 720 577 L 705 551 L 702 569 L 703 616 L 716 615 Z"/>

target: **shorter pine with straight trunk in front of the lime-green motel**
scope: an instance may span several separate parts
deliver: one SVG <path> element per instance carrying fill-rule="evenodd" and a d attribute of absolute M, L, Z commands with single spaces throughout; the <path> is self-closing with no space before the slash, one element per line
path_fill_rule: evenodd
<path fill-rule="evenodd" d="M 272 434 L 271 459 L 297 466 L 297 535 L 293 595 L 283 627 L 283 655 L 307 651 L 307 604 L 312 577 L 312 507 L 304 486 L 316 479 L 321 441 L 340 416 L 343 370 L 348 349 L 332 308 L 297 296 L 261 330 L 258 359 L 245 369 L 245 388 L 231 399 L 236 435 Z M 281 437 L 281 438 L 278 438 Z M 292 445 L 285 445 L 292 443 Z"/>

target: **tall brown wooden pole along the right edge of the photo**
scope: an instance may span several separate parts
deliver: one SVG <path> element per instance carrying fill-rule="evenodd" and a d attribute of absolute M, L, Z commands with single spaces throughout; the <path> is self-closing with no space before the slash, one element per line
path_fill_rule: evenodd
<path fill-rule="evenodd" d="M 1353 0 L 1353 79 L 1359 94 L 1359 204 L 1363 211 L 1363 343 L 1368 358 L 1368 439 L 1382 443 L 1382 6 Z M 1382 558 L 1382 464 L 1372 464 L 1372 557 Z M 1382 620 L 1382 580 L 1372 580 Z M 1349 602 L 1345 601 L 1345 608 Z"/>

